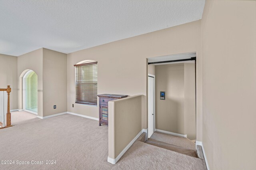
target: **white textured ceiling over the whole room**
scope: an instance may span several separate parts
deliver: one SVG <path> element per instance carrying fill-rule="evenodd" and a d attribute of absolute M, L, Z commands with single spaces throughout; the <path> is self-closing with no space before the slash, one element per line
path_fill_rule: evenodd
<path fill-rule="evenodd" d="M 204 0 L 0 0 L 0 53 L 71 53 L 200 20 Z"/>

